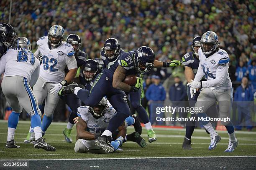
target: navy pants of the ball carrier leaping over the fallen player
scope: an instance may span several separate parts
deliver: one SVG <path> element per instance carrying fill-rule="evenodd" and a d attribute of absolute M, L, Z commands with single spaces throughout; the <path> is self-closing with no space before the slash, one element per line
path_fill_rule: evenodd
<path fill-rule="evenodd" d="M 101 72 L 94 84 L 91 91 L 81 89 L 78 91 L 77 96 L 87 106 L 96 106 L 100 100 L 107 96 L 110 104 L 115 108 L 117 113 L 110 120 L 107 130 L 114 133 L 117 128 L 123 124 L 126 117 L 130 115 L 130 108 L 128 103 L 123 100 L 125 92 L 118 90 L 112 86 L 112 80 L 107 75 Z"/>

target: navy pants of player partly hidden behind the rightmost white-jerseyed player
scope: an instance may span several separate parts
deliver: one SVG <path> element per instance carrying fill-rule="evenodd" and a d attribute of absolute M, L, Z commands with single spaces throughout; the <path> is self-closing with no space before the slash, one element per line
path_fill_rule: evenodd
<path fill-rule="evenodd" d="M 188 100 L 189 100 L 189 107 L 195 107 L 195 103 L 197 102 L 197 97 L 199 96 L 200 92 L 196 92 L 195 96 L 193 98 L 191 98 L 190 96 L 190 90 L 189 87 L 187 88 L 187 95 L 188 95 Z M 217 109 L 217 105 L 212 105 L 211 107 L 209 107 L 209 109 L 207 110 L 206 114 L 210 117 L 217 117 L 218 115 L 218 109 Z M 196 117 L 195 120 L 197 120 L 197 115 L 196 114 L 192 114 L 190 115 L 191 117 Z M 193 121 L 193 120 L 188 120 L 186 123 L 186 138 L 191 139 L 191 136 L 195 130 L 195 125 L 196 125 L 197 121 Z"/>

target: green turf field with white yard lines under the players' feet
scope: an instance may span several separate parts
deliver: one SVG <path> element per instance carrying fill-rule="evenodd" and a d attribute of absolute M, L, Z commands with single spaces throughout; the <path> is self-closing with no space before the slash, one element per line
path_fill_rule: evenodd
<path fill-rule="evenodd" d="M 123 144 L 123 151 L 111 154 L 90 154 L 75 153 L 76 128 L 72 133 L 73 143 L 66 143 L 62 130 L 66 123 L 52 123 L 45 135 L 46 142 L 56 148 L 56 152 L 46 152 L 36 149 L 31 144 L 24 144 L 30 122 L 20 121 L 15 133 L 15 140 L 20 145 L 19 149 L 5 149 L 7 138 L 7 122 L 0 120 L 0 159 L 80 159 L 80 158 L 138 158 L 138 157 L 197 157 L 197 156 L 235 156 L 235 155 L 256 155 L 256 132 L 239 131 L 236 136 L 239 145 L 234 153 L 224 153 L 228 146 L 228 134 L 225 131 L 218 131 L 222 140 L 215 150 L 209 151 L 210 137 L 204 130 L 195 130 L 192 138 L 193 150 L 182 150 L 184 129 L 155 128 L 157 141 L 147 143 L 146 148 L 139 147 L 136 143 L 128 142 Z M 133 127 L 128 128 L 128 133 L 134 131 Z M 142 137 L 148 140 L 146 130 L 143 129 Z"/>

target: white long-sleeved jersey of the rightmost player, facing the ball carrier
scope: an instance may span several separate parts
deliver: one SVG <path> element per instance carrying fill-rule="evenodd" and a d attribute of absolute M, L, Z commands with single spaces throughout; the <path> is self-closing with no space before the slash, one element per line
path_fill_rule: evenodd
<path fill-rule="evenodd" d="M 207 81 L 202 81 L 202 87 L 211 87 L 218 90 L 232 88 L 232 83 L 228 74 L 228 53 L 219 48 L 218 51 L 210 57 L 206 57 L 200 48 L 198 54 L 200 63 L 194 80 L 200 81 L 205 75 Z"/>

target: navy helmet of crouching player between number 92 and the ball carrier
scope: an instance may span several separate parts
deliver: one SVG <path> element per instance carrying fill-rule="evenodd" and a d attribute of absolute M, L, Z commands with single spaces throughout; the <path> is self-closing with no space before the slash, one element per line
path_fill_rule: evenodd
<path fill-rule="evenodd" d="M 84 62 L 82 68 L 84 79 L 88 82 L 97 75 L 97 72 L 99 70 L 99 63 L 96 60 L 89 59 Z"/>

